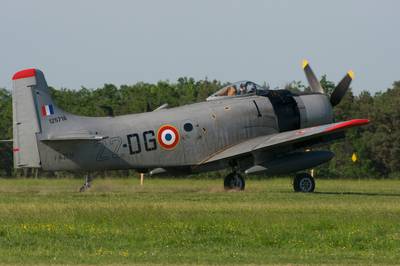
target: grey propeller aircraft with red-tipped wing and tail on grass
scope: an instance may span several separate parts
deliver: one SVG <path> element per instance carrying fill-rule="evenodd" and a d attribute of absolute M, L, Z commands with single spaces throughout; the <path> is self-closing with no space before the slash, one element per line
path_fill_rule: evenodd
<path fill-rule="evenodd" d="M 225 189 L 243 190 L 244 175 L 294 173 L 293 189 L 313 192 L 304 170 L 332 159 L 314 146 L 343 138 L 367 119 L 335 122 L 353 79 L 349 71 L 328 97 L 307 61 L 310 93 L 270 90 L 251 81 L 230 84 L 206 101 L 109 117 L 70 114 L 52 100 L 43 73 L 13 76 L 15 168 L 48 171 L 135 169 L 150 175 L 186 175 L 228 168 Z M 85 177 L 81 191 L 90 187 Z"/>

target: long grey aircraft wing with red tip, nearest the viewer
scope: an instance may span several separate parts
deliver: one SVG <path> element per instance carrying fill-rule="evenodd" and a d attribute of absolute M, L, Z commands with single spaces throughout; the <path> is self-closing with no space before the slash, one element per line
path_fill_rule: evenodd
<path fill-rule="evenodd" d="M 345 129 L 366 125 L 368 123 L 368 119 L 353 119 L 322 126 L 302 128 L 277 134 L 260 136 L 223 149 L 202 161 L 200 164 L 245 156 L 255 151 L 268 150 L 278 146 L 307 142 L 309 140 L 317 139 L 323 136 L 329 136 Z"/>

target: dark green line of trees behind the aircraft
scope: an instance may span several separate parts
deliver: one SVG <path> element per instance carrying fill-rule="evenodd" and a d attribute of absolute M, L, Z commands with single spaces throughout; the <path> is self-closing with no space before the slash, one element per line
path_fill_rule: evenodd
<path fill-rule="evenodd" d="M 335 84 L 321 79 L 330 94 Z M 168 103 L 170 107 L 204 101 L 222 88 L 224 83 L 213 80 L 196 81 L 179 78 L 176 82 L 156 84 L 138 82 L 133 85 L 105 84 L 101 88 L 80 90 L 50 88 L 54 101 L 62 109 L 77 115 L 107 116 L 151 111 Z M 301 82 L 286 86 L 293 92 L 307 91 Z M 368 118 L 371 124 L 347 131 L 347 138 L 328 146 L 336 156 L 316 170 L 321 177 L 387 178 L 400 176 L 400 81 L 385 92 L 371 95 L 367 91 L 354 95 L 350 89 L 342 102 L 334 108 L 336 121 Z M 0 139 L 12 139 L 11 91 L 0 88 Z M 353 154 L 357 160 L 352 160 Z M 354 159 L 354 158 L 353 158 Z M 12 167 L 12 145 L 0 143 L 0 176 L 12 177 L 21 173 Z M 131 171 L 101 172 L 98 175 L 129 175 Z M 45 176 L 74 176 L 73 173 L 41 173 Z M 79 175 L 79 174 L 78 174 Z"/>

